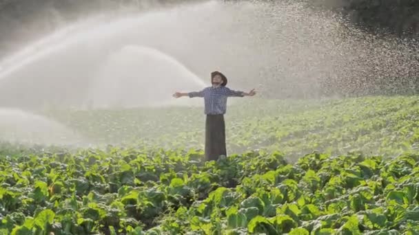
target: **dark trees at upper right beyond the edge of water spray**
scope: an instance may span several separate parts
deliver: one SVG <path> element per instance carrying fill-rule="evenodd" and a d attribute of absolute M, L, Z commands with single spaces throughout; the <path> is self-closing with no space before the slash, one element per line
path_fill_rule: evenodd
<path fill-rule="evenodd" d="M 386 36 L 405 47 L 391 65 L 386 61 L 364 61 L 371 65 L 351 80 L 350 95 L 391 95 L 419 93 L 419 1 L 418 0 L 310 0 L 323 8 L 339 12 L 358 29 L 377 36 Z M 408 49 L 407 49 L 408 48 Z M 371 52 L 373 53 L 373 52 Z M 399 57 L 397 57 L 399 58 Z M 380 63 L 380 64 L 374 64 Z M 380 68 L 391 67 L 388 69 Z M 378 70 L 377 70 L 378 68 Z M 354 86 L 354 80 L 358 86 Z M 325 93 L 345 89 L 345 80 L 325 80 Z"/>

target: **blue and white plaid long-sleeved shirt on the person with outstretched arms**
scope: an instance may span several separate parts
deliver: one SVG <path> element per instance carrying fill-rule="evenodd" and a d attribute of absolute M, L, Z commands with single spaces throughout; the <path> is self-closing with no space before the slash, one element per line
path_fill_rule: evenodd
<path fill-rule="evenodd" d="M 202 91 L 188 93 L 190 98 L 203 97 L 205 114 L 225 114 L 228 97 L 243 97 L 243 91 L 233 91 L 228 87 L 206 87 Z"/>

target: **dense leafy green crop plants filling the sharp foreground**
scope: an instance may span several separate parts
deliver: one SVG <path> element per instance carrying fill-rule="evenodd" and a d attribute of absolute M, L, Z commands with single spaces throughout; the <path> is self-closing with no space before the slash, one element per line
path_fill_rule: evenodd
<path fill-rule="evenodd" d="M 0 160 L 3 234 L 399 234 L 419 230 L 419 155 L 183 150 L 38 153 Z"/>

